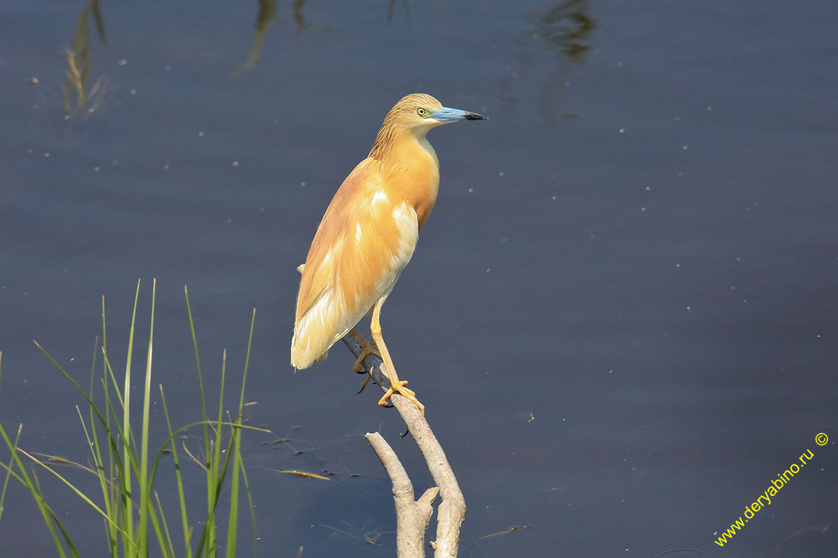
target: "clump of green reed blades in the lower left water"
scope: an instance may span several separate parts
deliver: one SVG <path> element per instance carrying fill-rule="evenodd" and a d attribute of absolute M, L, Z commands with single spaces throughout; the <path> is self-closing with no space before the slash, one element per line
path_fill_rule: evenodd
<path fill-rule="evenodd" d="M 7 430 L 0 424 L 0 435 L 6 443 L 11 457 L 8 462 L 0 462 L 5 470 L 3 490 L 0 492 L 0 519 L 3 517 L 3 502 L 6 497 L 9 479 L 16 479 L 32 494 L 44 523 L 54 541 L 59 556 L 66 558 L 71 555 L 78 558 L 73 538 L 65 529 L 61 520 L 47 502 L 47 494 L 41 487 L 38 471 L 46 471 L 55 479 L 76 494 L 85 504 L 100 514 L 105 526 L 108 554 L 112 558 L 145 558 L 149 555 L 150 546 L 156 543 L 158 552 L 163 558 L 174 558 L 182 555 L 187 558 L 215 558 L 216 549 L 220 547 L 218 533 L 218 518 L 216 509 L 221 499 L 225 480 L 230 474 L 227 489 L 229 491 L 229 514 L 227 518 L 225 556 L 235 556 L 238 533 L 238 515 L 240 489 L 246 495 L 251 509 L 251 522 L 256 525 L 253 516 L 253 503 L 244 462 L 241 458 L 241 434 L 243 430 L 269 432 L 263 428 L 247 426 L 242 422 L 245 403 L 245 385 L 247 368 L 250 364 L 253 327 L 256 321 L 256 310 L 251 317 L 250 333 L 247 339 L 247 352 L 244 371 L 241 378 L 238 409 L 235 418 L 224 411 L 224 388 L 226 381 L 226 351 L 221 360 L 221 382 L 218 397 L 218 408 L 215 416 L 210 419 L 207 413 L 207 403 L 204 398 L 204 381 L 201 373 L 200 357 L 198 353 L 198 339 L 195 334 L 192 308 L 189 305 L 189 292 L 186 295 L 186 307 L 189 315 L 189 329 L 192 333 L 195 361 L 198 370 L 198 387 L 201 397 L 201 420 L 192 422 L 184 427 L 173 429 L 168 414 L 166 396 L 163 385 L 159 384 L 163 412 L 166 417 L 168 437 L 165 438 L 156 453 L 149 450 L 149 407 L 152 397 L 152 356 L 154 338 L 154 305 L 156 281 L 152 287 L 151 319 L 149 324 L 148 347 L 146 353 L 145 375 L 142 383 L 142 418 L 139 428 L 139 443 L 135 438 L 135 428 L 131 422 L 132 404 L 132 355 L 134 330 L 137 320 L 137 301 L 139 300 L 140 284 L 137 282 L 137 293 L 134 296 L 134 306 L 131 328 L 128 332 L 127 359 L 122 382 L 117 379 L 113 368 L 106 337 L 105 299 L 102 298 L 102 337 L 101 345 L 96 340 L 91 370 L 90 387 L 85 390 L 70 374 L 49 355 L 43 346 L 36 341 L 44 355 L 49 358 L 59 371 L 85 397 L 87 402 L 87 417 L 79 407 L 76 407 L 81 427 L 91 453 L 88 456 L 91 465 L 76 463 L 65 458 L 45 453 L 28 452 L 20 447 L 20 437 L 23 425 L 18 426 L 14 438 L 10 438 Z M 101 374 L 96 375 L 97 356 L 101 354 Z M 2 361 L 0 352 L 0 361 Z M 101 388 L 101 390 L 97 390 Z M 97 391 L 101 391 L 100 402 L 94 401 Z M 181 440 L 184 433 L 191 427 L 201 427 L 204 434 L 204 453 L 198 458 L 189 451 L 185 442 Z M 178 448 L 178 444 L 180 448 Z M 224 447 L 222 449 L 222 446 Z M 158 493 L 153 489 L 158 466 L 164 455 L 170 454 L 173 459 L 173 471 L 178 492 L 178 518 L 180 530 L 170 529 L 169 521 L 164 514 Z M 200 522 L 190 523 L 187 496 L 184 491 L 183 471 L 181 468 L 182 455 L 193 462 L 204 474 L 206 480 L 206 508 Z M 78 486 L 59 472 L 58 466 L 80 468 L 96 476 L 100 494 L 85 494 Z M 28 470 L 27 466 L 32 469 Z M 136 487 L 136 488 L 135 488 Z M 97 503 L 98 502 L 98 503 Z M 203 525 L 203 526 L 201 526 Z M 195 529 L 200 528 L 196 533 Z M 174 538 L 179 537 L 177 545 Z M 176 546 L 177 549 L 176 550 Z M 253 535 L 254 554 L 256 553 L 256 535 Z"/>

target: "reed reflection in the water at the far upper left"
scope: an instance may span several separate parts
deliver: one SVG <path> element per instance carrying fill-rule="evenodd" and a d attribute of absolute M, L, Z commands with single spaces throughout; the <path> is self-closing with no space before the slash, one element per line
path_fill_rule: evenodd
<path fill-rule="evenodd" d="M 105 76 L 99 76 L 93 84 L 89 83 L 91 74 L 91 39 L 90 28 L 91 18 L 96 25 L 96 34 L 101 44 L 107 48 L 105 36 L 105 23 L 101 16 L 100 0 L 91 0 L 87 7 L 79 15 L 79 21 L 75 24 L 75 36 L 73 47 L 65 53 L 67 65 L 67 77 L 64 84 L 64 110 L 68 113 L 77 112 L 87 108 L 96 109 L 96 98 L 105 89 Z M 73 96 L 75 94 L 75 103 Z M 93 100 L 91 102 L 91 100 Z"/>

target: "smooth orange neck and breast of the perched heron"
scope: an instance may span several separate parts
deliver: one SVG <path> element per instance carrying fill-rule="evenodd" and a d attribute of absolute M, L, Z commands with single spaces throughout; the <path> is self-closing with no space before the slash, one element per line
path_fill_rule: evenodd
<path fill-rule="evenodd" d="M 419 228 L 431 214 L 439 192 L 439 160 L 425 133 L 394 134 L 380 152 L 381 178 L 392 192 L 416 210 Z"/>

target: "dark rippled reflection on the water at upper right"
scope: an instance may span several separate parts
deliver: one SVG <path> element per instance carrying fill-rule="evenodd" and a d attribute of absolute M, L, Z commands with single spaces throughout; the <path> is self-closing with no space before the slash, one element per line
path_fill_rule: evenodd
<path fill-rule="evenodd" d="M 541 57 L 534 56 L 533 51 L 547 52 L 555 56 L 551 69 L 546 72 L 544 83 L 541 84 L 541 98 L 538 101 L 541 113 L 553 124 L 561 124 L 575 117 L 571 112 L 564 110 L 562 96 L 576 67 L 575 64 L 583 64 L 585 54 L 591 49 L 588 41 L 597 24 L 589 12 L 588 0 L 561 0 L 527 16 L 527 22 L 532 27 L 517 37 L 523 51 L 517 55 L 516 64 L 510 67 L 508 74 L 499 79 L 501 102 L 509 109 L 513 108 L 517 102 L 515 82 L 525 79 L 529 74 L 540 72 L 534 67 L 540 63 Z"/>

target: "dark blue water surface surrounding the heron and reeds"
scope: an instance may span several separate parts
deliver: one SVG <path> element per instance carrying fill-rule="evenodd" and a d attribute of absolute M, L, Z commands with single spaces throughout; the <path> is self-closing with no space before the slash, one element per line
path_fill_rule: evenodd
<path fill-rule="evenodd" d="M 815 444 L 838 440 L 838 4 L 296 5 L 258 53 L 256 3 L 104 2 L 107 48 L 92 18 L 80 33 L 85 2 L 0 8 L 0 421 L 23 448 L 85 462 L 83 400 L 32 340 L 86 383 L 100 297 L 122 361 L 137 278 L 137 346 L 157 278 L 154 381 L 173 422 L 199 418 L 186 284 L 212 394 L 225 347 L 239 381 L 256 307 L 250 421 L 275 433 L 245 450 L 257 555 L 394 555 L 362 435 L 417 490 L 421 456 L 375 390 L 354 395 L 342 346 L 297 374 L 288 347 L 318 219 L 425 91 L 490 118 L 430 134 L 437 208 L 382 319 L 466 496 L 461 555 L 838 555 L 838 456 Z M 65 107 L 84 43 L 87 97 Z M 101 520 L 49 486 L 102 555 Z M 54 555 L 14 483 L 0 546 Z"/>

